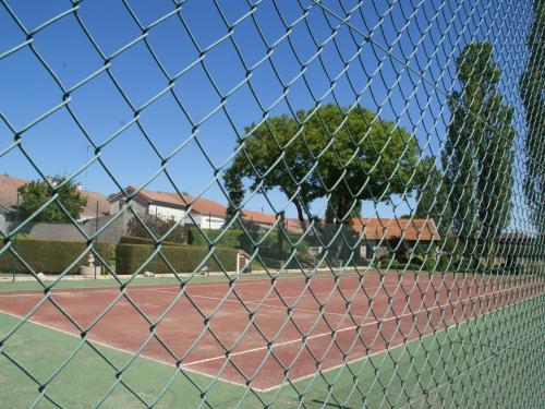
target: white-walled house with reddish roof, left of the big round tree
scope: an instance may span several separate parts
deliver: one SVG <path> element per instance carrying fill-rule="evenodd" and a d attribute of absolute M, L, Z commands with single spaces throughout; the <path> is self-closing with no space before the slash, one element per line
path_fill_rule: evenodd
<path fill-rule="evenodd" d="M 137 189 L 129 187 L 128 194 Z M 110 212 L 117 213 L 126 202 L 125 194 L 119 192 L 108 197 Z M 203 229 L 220 229 L 226 221 L 227 207 L 207 199 L 190 194 L 140 190 L 131 200 L 131 206 L 138 215 L 154 215 L 161 219 L 173 219 L 182 225 L 197 225 Z"/>

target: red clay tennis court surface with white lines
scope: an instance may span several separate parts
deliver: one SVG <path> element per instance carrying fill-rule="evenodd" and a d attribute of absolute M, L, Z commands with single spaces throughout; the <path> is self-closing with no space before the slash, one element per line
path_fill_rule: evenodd
<path fill-rule="evenodd" d="M 308 285 L 278 279 L 274 287 L 270 280 L 239 280 L 232 289 L 190 284 L 183 293 L 179 285 L 132 286 L 121 298 L 114 287 L 59 289 L 50 298 L 81 328 L 50 301 L 31 321 L 75 336 L 85 328 L 88 339 L 129 352 L 149 340 L 144 357 L 168 364 L 183 359 L 187 371 L 235 384 L 252 378 L 256 390 L 268 390 L 286 382 L 284 369 L 296 381 L 316 373 L 317 362 L 334 369 L 543 293 L 544 286 L 535 278 L 370 273 L 337 285 L 330 276 Z M 24 316 L 43 298 L 43 291 L 0 292 L 0 311 Z"/>

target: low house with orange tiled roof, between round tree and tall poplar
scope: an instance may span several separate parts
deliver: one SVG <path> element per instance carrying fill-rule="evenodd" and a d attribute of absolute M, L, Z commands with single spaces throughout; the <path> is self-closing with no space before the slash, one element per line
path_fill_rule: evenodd
<path fill-rule="evenodd" d="M 374 254 L 378 258 L 391 255 L 396 248 L 398 253 L 403 253 L 416 243 L 429 244 L 439 240 L 433 219 L 354 218 L 352 229 L 362 239 L 361 258 L 372 258 Z"/>

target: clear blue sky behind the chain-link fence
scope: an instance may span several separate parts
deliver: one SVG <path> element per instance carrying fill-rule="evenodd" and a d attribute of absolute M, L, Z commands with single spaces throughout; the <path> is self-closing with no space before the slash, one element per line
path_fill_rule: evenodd
<path fill-rule="evenodd" d="M 7 3 L 28 31 L 72 8 L 68 0 Z M 105 58 L 93 47 L 73 12 L 32 36 L 33 47 L 64 89 L 96 74 L 70 93 L 68 107 L 97 146 L 117 135 L 101 147 L 100 157 L 121 185 L 146 183 L 161 166 L 160 157 L 171 157 L 167 170 L 180 191 L 204 192 L 205 197 L 225 203 L 218 187 L 210 185 L 214 167 L 229 158 L 237 134 L 243 135 L 244 127 L 263 118 L 264 109 L 271 116 L 286 113 L 289 106 L 308 108 L 316 99 L 352 105 L 356 95 L 351 87 L 360 94 L 361 105 L 379 110 L 383 118 L 398 121 L 414 134 L 423 156 L 437 155 L 449 120 L 447 97 L 437 87 L 450 91 L 456 86 L 456 57 L 472 40 L 505 45 L 504 49 L 495 47 L 506 73 L 500 91 L 511 105 L 520 104 L 513 79 L 524 64 L 525 53 L 519 43 L 530 24 L 530 2 L 526 10 L 517 8 L 520 15 L 506 21 L 509 10 L 498 13 L 498 8 L 486 1 L 474 1 L 473 8 L 453 0 L 415 1 L 414 5 L 409 1 L 363 1 L 332 39 L 331 26 L 339 21 L 310 0 L 264 0 L 254 7 L 242 0 L 217 0 L 223 15 L 214 1 L 187 0 L 180 9 L 183 19 L 179 14 L 169 16 L 175 10 L 171 0 L 126 3 L 143 27 L 152 25 L 144 36 L 121 0 L 82 1 L 77 16 L 108 58 L 108 71 L 129 103 L 104 70 Z M 343 1 L 344 9 L 338 1 L 323 4 L 346 16 L 358 2 Z M 305 19 L 301 5 L 313 5 Z M 289 35 L 286 25 L 293 25 Z M 372 43 L 365 43 L 363 35 L 371 36 Z M 261 36 L 269 47 L 274 46 L 269 48 Z M 25 40 L 26 35 L 0 4 L 0 56 Z M 147 47 L 167 75 L 177 77 L 171 89 L 183 109 L 170 91 L 161 94 L 169 87 L 169 79 Z M 312 60 L 318 50 L 319 58 Z M 342 59 L 351 60 L 348 69 Z M 308 60 L 312 62 L 306 64 L 304 75 L 298 77 L 301 62 Z M 252 67 L 252 75 L 244 82 L 246 68 Z M 296 77 L 283 98 L 284 87 L 277 75 L 284 84 Z M 422 81 L 423 76 L 426 81 Z M 336 77 L 331 87 L 329 79 Z M 218 91 L 229 96 L 225 109 L 216 110 L 221 104 Z M 25 129 L 62 101 L 61 87 L 28 47 L 0 59 L 0 111 L 15 130 Z M 517 123 L 522 123 L 520 115 Z M 10 146 L 13 137 L 0 121 L 0 152 Z M 22 146 L 46 175 L 72 175 L 94 155 L 66 106 L 25 131 Z M 17 148 L 0 157 L 0 172 L 38 177 Z M 76 180 L 87 190 L 105 194 L 117 191 L 98 163 Z M 159 175 L 146 189 L 171 191 L 172 187 Z M 269 199 L 278 207 L 287 202 L 279 192 L 270 192 Z M 320 204 L 317 201 L 314 209 Z M 364 215 L 400 216 L 412 205 L 411 197 L 400 196 L 393 197 L 393 206 L 366 202 Z M 261 195 L 247 207 L 271 210 Z M 290 207 L 288 213 L 294 215 L 294 209 Z"/>

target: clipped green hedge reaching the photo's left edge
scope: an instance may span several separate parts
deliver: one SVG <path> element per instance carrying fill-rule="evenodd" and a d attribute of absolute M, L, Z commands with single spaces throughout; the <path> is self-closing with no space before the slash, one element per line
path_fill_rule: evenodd
<path fill-rule="evenodd" d="M 86 249 L 86 243 L 81 241 L 56 241 L 21 239 L 13 244 L 13 249 L 36 273 L 62 273 L 70 264 L 77 258 Z M 109 262 L 113 256 L 113 246 L 106 243 L 95 244 L 95 249 L 100 256 Z M 70 274 L 77 274 L 80 265 L 87 264 L 85 256 L 77 266 L 72 268 Z M 29 273 L 29 270 L 16 260 L 11 251 L 7 250 L 0 254 L 0 272 Z"/>

